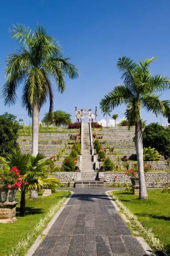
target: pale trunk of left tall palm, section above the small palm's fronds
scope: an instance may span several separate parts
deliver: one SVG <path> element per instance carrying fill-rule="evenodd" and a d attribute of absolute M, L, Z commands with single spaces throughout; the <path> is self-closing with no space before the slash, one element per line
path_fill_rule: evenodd
<path fill-rule="evenodd" d="M 33 104 L 32 113 L 32 154 L 38 154 L 38 122 L 39 122 L 39 108 L 37 104 Z"/>

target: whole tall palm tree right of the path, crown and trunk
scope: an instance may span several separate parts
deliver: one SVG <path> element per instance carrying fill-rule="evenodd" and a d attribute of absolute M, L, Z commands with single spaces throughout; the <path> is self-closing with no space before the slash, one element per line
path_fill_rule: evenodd
<path fill-rule="evenodd" d="M 170 101 L 161 101 L 156 91 L 170 88 L 170 78 L 163 75 L 152 76 L 150 64 L 156 58 L 145 59 L 135 63 L 132 59 L 122 57 L 118 59 L 117 67 L 121 73 L 123 84 L 116 85 L 100 101 L 100 107 L 114 110 L 121 104 L 126 105 L 125 116 L 129 126 L 135 125 L 135 142 L 138 160 L 138 176 L 140 199 L 147 199 L 147 190 L 143 170 L 143 137 L 140 111 L 144 108 L 147 112 L 152 111 L 156 116 L 161 113 L 164 117 L 170 117 Z"/>

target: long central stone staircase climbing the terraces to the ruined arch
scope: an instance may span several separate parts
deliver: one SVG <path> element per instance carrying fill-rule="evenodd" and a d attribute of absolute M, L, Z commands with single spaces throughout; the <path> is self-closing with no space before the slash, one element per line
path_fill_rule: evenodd
<path fill-rule="evenodd" d="M 89 125 L 89 123 L 83 123 L 81 181 L 76 182 L 76 187 L 104 187 L 103 181 L 100 181 L 99 184 L 99 181 L 96 180 L 97 173 L 95 172 L 95 163 L 91 155 Z"/>

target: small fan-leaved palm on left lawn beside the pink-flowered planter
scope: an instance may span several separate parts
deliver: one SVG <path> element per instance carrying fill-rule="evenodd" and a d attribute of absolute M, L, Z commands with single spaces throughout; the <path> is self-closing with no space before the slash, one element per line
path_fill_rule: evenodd
<path fill-rule="evenodd" d="M 8 157 L 0 157 L 0 164 L 11 170 L 12 167 L 17 167 L 22 175 L 24 183 L 20 187 L 21 202 L 20 215 L 25 215 L 25 194 L 28 190 L 39 190 L 43 187 L 56 189 L 59 180 L 55 177 L 47 178 L 47 166 L 50 164 L 50 159 L 44 160 L 44 154 L 38 153 L 36 156 L 31 154 L 23 154 L 20 149 L 12 149 Z M 27 184 L 28 183 L 28 184 Z"/>

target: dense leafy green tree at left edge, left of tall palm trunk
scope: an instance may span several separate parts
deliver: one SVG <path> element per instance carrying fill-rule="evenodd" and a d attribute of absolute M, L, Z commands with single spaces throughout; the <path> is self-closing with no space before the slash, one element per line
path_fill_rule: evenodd
<path fill-rule="evenodd" d="M 6 157 L 13 148 L 18 148 L 18 130 L 20 124 L 16 116 L 5 112 L 0 115 L 0 155 Z"/>

